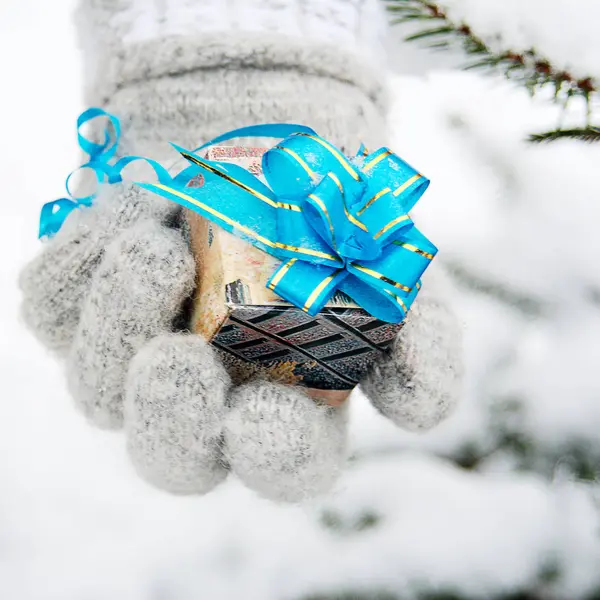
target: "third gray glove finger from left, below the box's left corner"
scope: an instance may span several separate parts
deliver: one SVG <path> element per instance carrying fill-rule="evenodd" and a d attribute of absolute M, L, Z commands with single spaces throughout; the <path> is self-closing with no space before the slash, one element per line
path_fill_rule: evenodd
<path fill-rule="evenodd" d="M 203 494 L 223 481 L 221 455 L 230 381 L 196 335 L 161 335 L 135 356 L 126 386 L 125 434 L 137 472 L 175 494 Z"/>

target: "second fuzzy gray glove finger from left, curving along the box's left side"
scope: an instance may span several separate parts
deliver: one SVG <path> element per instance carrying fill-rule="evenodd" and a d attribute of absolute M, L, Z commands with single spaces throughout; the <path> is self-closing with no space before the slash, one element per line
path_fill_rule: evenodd
<path fill-rule="evenodd" d="M 129 363 L 148 340 L 170 330 L 194 280 L 181 235 L 154 221 L 139 223 L 106 248 L 67 360 L 70 391 L 99 427 L 122 426 Z"/>

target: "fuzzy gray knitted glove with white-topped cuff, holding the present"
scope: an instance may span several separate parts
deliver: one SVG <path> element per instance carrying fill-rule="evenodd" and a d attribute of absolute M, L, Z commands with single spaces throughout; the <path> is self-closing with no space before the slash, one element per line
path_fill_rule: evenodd
<path fill-rule="evenodd" d="M 258 122 L 305 123 L 348 152 L 376 147 L 380 10 L 379 0 L 81 0 L 86 100 L 122 120 L 124 154 L 167 164 L 168 141 L 195 147 Z M 177 211 L 129 184 L 102 188 L 23 270 L 26 322 L 66 361 L 83 413 L 124 428 L 153 484 L 205 493 L 231 470 L 273 499 L 326 491 L 347 409 L 273 383 L 233 389 L 210 346 L 174 333 L 195 277 Z M 460 331 L 431 270 L 391 357 L 362 384 L 409 429 L 435 425 L 458 394 Z"/>

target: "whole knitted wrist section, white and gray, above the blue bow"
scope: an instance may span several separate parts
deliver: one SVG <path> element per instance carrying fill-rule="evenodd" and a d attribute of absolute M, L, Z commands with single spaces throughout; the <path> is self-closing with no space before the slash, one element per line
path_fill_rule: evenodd
<path fill-rule="evenodd" d="M 86 103 L 119 116 L 123 154 L 267 122 L 386 142 L 379 0 L 82 0 L 77 24 Z"/>

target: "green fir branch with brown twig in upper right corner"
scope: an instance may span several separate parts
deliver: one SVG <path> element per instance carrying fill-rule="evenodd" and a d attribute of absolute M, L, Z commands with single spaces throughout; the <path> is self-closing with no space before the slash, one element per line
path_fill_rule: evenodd
<path fill-rule="evenodd" d="M 560 138 L 598 142 L 598 128 L 590 123 L 592 97 L 598 93 L 600 83 L 592 77 L 576 78 L 552 63 L 531 48 L 517 52 L 505 50 L 497 52 L 477 36 L 466 23 L 453 21 L 446 10 L 437 2 L 429 0 L 384 0 L 387 9 L 394 15 L 393 23 L 414 23 L 423 21 L 425 29 L 407 36 L 407 41 L 426 41 L 429 47 L 448 48 L 459 45 L 463 51 L 474 57 L 466 69 L 488 69 L 503 73 L 511 81 L 526 87 L 531 94 L 550 86 L 554 100 L 566 108 L 575 98 L 583 98 L 587 107 L 587 122 L 581 129 L 563 131 L 557 129 L 530 137 L 530 141 L 554 141 Z"/>

